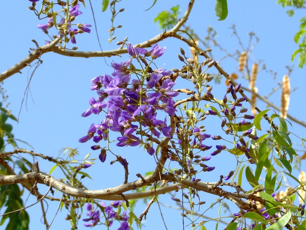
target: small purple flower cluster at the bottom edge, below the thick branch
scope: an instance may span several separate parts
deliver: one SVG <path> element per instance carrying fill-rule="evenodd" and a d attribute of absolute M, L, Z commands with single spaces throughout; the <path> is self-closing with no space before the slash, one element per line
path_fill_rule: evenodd
<path fill-rule="evenodd" d="M 106 225 L 108 227 L 112 226 L 114 220 L 118 220 L 121 222 L 120 227 L 118 230 L 128 230 L 130 229 L 129 223 L 127 220 L 129 219 L 129 216 L 127 216 L 126 211 L 124 210 L 122 214 L 118 213 L 118 210 L 115 211 L 114 209 L 119 208 L 121 206 L 120 201 L 113 201 L 110 203 L 110 205 L 106 206 L 105 202 L 101 202 L 100 204 L 105 213 L 106 217 Z M 91 222 L 91 223 L 85 223 L 84 225 L 86 227 L 92 227 L 97 225 L 98 222 L 100 222 L 100 211 L 94 211 L 93 206 L 91 203 L 87 203 L 87 211 L 89 211 L 86 215 L 89 216 L 88 218 L 83 219 L 85 222 Z"/>

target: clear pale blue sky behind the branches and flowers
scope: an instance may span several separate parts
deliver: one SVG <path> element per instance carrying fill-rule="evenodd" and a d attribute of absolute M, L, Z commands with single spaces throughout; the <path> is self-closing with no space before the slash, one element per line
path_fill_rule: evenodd
<path fill-rule="evenodd" d="M 181 5 L 181 10 L 184 12 L 186 1 L 157 1 L 157 4 L 150 9 L 153 1 L 122 1 L 118 3 L 119 8 L 125 8 L 125 11 L 120 13 L 115 19 L 115 25 L 122 25 L 121 29 L 116 30 L 117 40 L 122 40 L 126 36 L 133 44 L 143 42 L 151 37 L 161 33 L 161 29 L 157 24 L 153 23 L 154 17 L 165 9 L 170 9 L 176 4 Z M 101 13 L 100 1 L 92 1 L 99 38 L 103 50 L 117 48 L 115 42 L 109 44 L 108 29 L 110 23 L 110 11 L 107 10 Z M 3 36 L 0 36 L 0 71 L 3 72 L 7 68 L 22 60 L 29 54 L 29 48 L 34 48 L 35 44 L 31 41 L 35 39 L 39 45 L 44 44 L 47 39 L 46 35 L 37 29 L 37 24 L 44 24 L 45 20 L 39 21 L 28 7 L 31 5 L 29 1 L 5 1 L 0 18 L 3 21 Z M 79 16 L 81 23 L 93 25 L 92 15 L 89 4 L 87 8 L 82 8 L 83 14 Z M 276 4 L 276 1 L 228 1 L 228 17 L 224 21 L 218 21 L 214 14 L 214 1 L 196 1 L 193 11 L 187 21 L 200 37 L 205 37 L 207 27 L 211 26 L 217 31 L 216 40 L 228 50 L 234 52 L 239 49 L 237 39 L 232 36 L 232 31 L 229 29 L 232 25 L 236 25 L 237 31 L 244 44 L 247 43 L 248 33 L 254 32 L 260 38 L 259 43 L 252 52 L 250 62 L 258 62 L 263 60 L 268 70 L 277 72 L 276 79 L 273 80 L 271 75 L 262 71 L 258 77 L 259 93 L 263 96 L 271 91 L 271 87 L 277 87 L 277 81 L 280 82 L 285 74 L 287 74 L 286 65 L 294 65 L 294 71 L 290 76 L 291 87 L 297 89 L 291 94 L 291 101 L 288 113 L 292 116 L 303 120 L 306 112 L 305 106 L 302 104 L 305 98 L 304 85 L 306 85 L 305 70 L 297 67 L 297 60 L 291 62 L 291 54 L 297 48 L 293 41 L 294 34 L 298 31 L 298 20 L 303 16 L 304 11 L 298 11 L 293 17 L 288 17 L 285 10 Z M 81 34 L 77 37 L 77 45 L 80 51 L 99 51 L 98 42 L 95 31 L 92 28 L 91 34 Z M 176 58 L 180 53 L 180 47 L 189 51 L 187 45 L 182 41 L 174 38 L 166 39 L 160 42 L 161 46 L 166 46 L 167 51 L 162 59 L 158 60 L 159 67 L 163 65 L 165 68 L 180 68 L 181 63 Z M 213 50 L 213 55 L 216 60 L 219 60 L 224 53 L 218 49 Z M 111 74 L 111 61 L 124 61 L 128 58 L 127 55 L 122 55 L 122 58 L 69 58 L 62 57 L 57 54 L 47 53 L 42 56 L 43 64 L 36 70 L 31 83 L 31 96 L 25 100 L 21 109 L 19 123 L 12 122 L 14 129 L 13 133 L 17 139 L 28 142 L 34 147 L 35 152 L 56 157 L 58 152 L 64 147 L 78 148 L 80 158 L 90 151 L 91 142 L 80 144 L 79 138 L 87 133 L 91 123 L 97 123 L 102 118 L 90 116 L 82 118 L 81 114 L 88 108 L 88 100 L 95 97 L 94 93 L 89 89 L 90 80 L 98 75 L 105 73 Z M 227 73 L 237 72 L 238 63 L 230 59 L 225 59 L 221 62 L 221 66 Z M 12 113 L 17 116 L 25 87 L 31 76 L 33 68 L 24 68 L 22 74 L 15 74 L 5 80 L 4 87 L 9 96 L 8 101 L 11 103 L 9 108 Z M 243 81 L 242 81 L 243 82 Z M 244 82 L 245 83 L 245 82 Z M 247 85 L 245 85 L 247 87 Z M 223 82 L 214 86 L 222 95 L 225 90 Z M 217 93 L 216 93 L 217 94 Z M 270 100 L 277 106 L 280 104 L 281 91 L 274 93 Z M 32 100 L 33 99 L 33 100 Z M 259 103 L 261 109 L 265 109 L 265 104 Z M 305 137 L 304 128 L 293 124 L 293 132 L 301 137 Z M 208 127 L 209 124 L 208 124 Z M 20 143 L 22 148 L 30 148 Z M 135 148 L 118 149 L 120 154 L 127 158 L 130 165 L 130 179 L 137 179 L 135 174 L 144 174 L 146 171 L 154 169 L 155 162 L 143 150 Z M 95 152 L 92 156 L 96 157 Z M 93 174 L 93 180 L 87 181 L 86 186 L 89 189 L 104 189 L 111 186 L 120 185 L 123 181 L 123 169 L 112 165 L 109 166 L 111 157 L 107 162 L 96 164 L 87 169 L 89 174 Z M 220 163 L 221 162 L 221 163 Z M 210 174 L 209 177 L 217 180 L 220 174 L 226 174 L 230 167 L 222 163 L 221 158 L 217 158 L 215 164 L 218 164 L 218 171 L 215 174 Z M 304 163 L 303 163 L 304 165 Z M 40 162 L 40 169 L 48 172 L 52 168 L 52 164 Z M 223 171 L 222 171 L 223 170 Z M 55 171 L 52 175 L 60 176 L 60 172 Z M 202 181 L 208 179 L 202 178 Z M 46 188 L 42 187 L 46 190 Z M 44 190 L 42 190 L 44 191 Z M 59 194 L 57 194 L 59 195 Z M 205 197 L 203 195 L 203 197 Z M 206 198 L 204 198 L 206 199 Z M 212 202 L 215 198 L 207 198 L 207 203 Z M 211 200 L 211 201 L 210 201 Z M 161 201 L 170 203 L 169 197 L 161 198 Z M 138 201 L 142 203 L 142 201 Z M 28 204 L 30 201 L 28 201 Z M 174 203 L 172 203 L 174 204 Z M 50 204 L 48 216 L 51 218 L 56 212 L 57 204 Z M 141 205 L 136 210 L 138 215 L 144 209 Z M 163 215 L 168 225 L 168 229 L 179 229 L 182 222 L 180 211 L 177 215 L 172 215 L 173 212 L 163 208 Z M 217 209 L 215 208 L 214 211 Z M 32 207 L 28 212 L 35 215 L 40 215 L 39 207 Z M 176 211 L 175 211 L 176 212 Z M 83 215 L 84 216 L 84 215 Z M 33 215 L 32 215 L 33 217 Z M 39 219 L 31 220 L 30 229 L 42 229 L 43 226 Z M 60 229 L 69 229 L 68 221 L 63 220 L 63 215 L 59 214 L 55 220 L 55 229 L 60 226 Z M 150 210 L 145 223 L 146 229 L 163 228 L 163 223 L 155 204 Z M 83 229 L 80 223 L 80 229 Z M 190 226 L 186 227 L 190 229 Z"/>

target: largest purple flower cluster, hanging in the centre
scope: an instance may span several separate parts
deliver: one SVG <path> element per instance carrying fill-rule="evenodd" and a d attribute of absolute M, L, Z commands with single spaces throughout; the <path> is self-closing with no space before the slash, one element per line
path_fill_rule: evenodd
<path fill-rule="evenodd" d="M 102 111 L 106 112 L 106 115 L 101 123 L 92 124 L 87 135 L 79 142 L 84 143 L 93 137 L 93 141 L 98 143 L 108 140 L 109 131 L 119 132 L 121 136 L 117 137 L 117 146 L 145 144 L 145 149 L 152 155 L 155 149 L 142 141 L 141 134 L 143 133 L 140 133 L 140 130 L 157 138 L 161 134 L 172 138 L 172 128 L 167 125 L 166 118 L 164 120 L 157 118 L 157 110 L 175 116 L 173 97 L 179 93 L 172 91 L 175 83 L 171 79 L 161 80 L 169 76 L 171 71 L 162 68 L 152 71 L 146 68 L 136 73 L 132 65 L 133 59 L 138 59 L 140 55 L 151 56 L 151 58 L 162 56 L 165 48 L 156 44 L 147 51 L 135 48 L 129 43 L 127 51 L 132 58 L 125 62 L 112 62 L 111 65 L 114 68 L 112 76 L 105 74 L 91 80 L 90 88 L 96 90 L 98 97 L 89 100 L 91 107 L 82 114 L 82 117 L 87 117 L 92 113 L 99 114 Z M 137 79 L 133 79 L 133 73 Z M 93 150 L 99 148 L 98 145 L 92 146 Z"/>

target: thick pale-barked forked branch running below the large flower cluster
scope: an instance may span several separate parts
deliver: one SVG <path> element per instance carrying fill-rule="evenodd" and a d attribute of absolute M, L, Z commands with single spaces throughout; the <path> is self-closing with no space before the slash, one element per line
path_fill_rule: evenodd
<path fill-rule="evenodd" d="M 0 185 L 16 184 L 16 183 L 25 183 L 25 182 L 37 182 L 42 183 L 52 188 L 59 190 L 62 193 L 73 197 L 84 197 L 84 198 L 95 198 L 95 199 L 104 199 L 104 200 L 130 200 L 130 199 L 139 199 L 144 197 L 156 196 L 159 194 L 165 194 L 171 191 L 175 191 L 180 187 L 192 187 L 197 191 L 203 191 L 220 197 L 224 197 L 233 201 L 240 209 L 241 208 L 250 208 L 251 204 L 248 201 L 242 199 L 254 199 L 258 200 L 258 197 L 253 194 L 243 194 L 243 193 L 232 193 L 227 192 L 220 187 L 216 187 L 214 183 L 204 183 L 204 182 L 193 182 L 190 180 L 180 180 L 177 182 L 177 178 L 170 177 L 167 174 L 161 174 L 158 177 L 161 177 L 162 180 L 167 180 L 169 182 L 174 182 L 172 185 L 165 185 L 161 188 L 156 188 L 144 192 L 133 192 L 133 193 L 124 193 L 131 190 L 136 190 L 143 186 L 151 185 L 155 181 L 159 181 L 159 178 L 155 178 L 154 174 L 144 177 L 143 179 L 135 180 L 118 187 L 102 189 L 102 190 L 84 190 L 82 188 L 75 188 L 67 185 L 66 183 L 55 179 L 54 177 L 42 173 L 42 172 L 33 172 L 26 173 L 21 175 L 0 175 Z M 123 196 L 122 196 L 123 194 Z"/>

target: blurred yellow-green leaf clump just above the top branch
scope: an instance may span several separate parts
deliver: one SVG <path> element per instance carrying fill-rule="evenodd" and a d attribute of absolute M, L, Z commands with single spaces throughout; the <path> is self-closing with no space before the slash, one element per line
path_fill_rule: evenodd
<path fill-rule="evenodd" d="M 158 22 L 158 25 L 163 30 L 170 30 L 179 20 L 179 13 L 180 5 L 176 5 L 170 9 L 170 12 L 167 10 L 160 12 L 154 19 L 154 22 Z"/>

